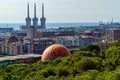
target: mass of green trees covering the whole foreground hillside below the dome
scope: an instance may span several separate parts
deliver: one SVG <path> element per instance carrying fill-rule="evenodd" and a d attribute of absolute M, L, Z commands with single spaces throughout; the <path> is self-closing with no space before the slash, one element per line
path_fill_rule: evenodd
<path fill-rule="evenodd" d="M 0 66 L 0 80 L 120 80 L 120 40 L 105 51 L 80 47 L 66 58 Z"/>

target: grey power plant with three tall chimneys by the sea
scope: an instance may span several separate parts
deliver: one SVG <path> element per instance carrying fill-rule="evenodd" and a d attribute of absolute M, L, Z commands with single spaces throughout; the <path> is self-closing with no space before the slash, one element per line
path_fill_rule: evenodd
<path fill-rule="evenodd" d="M 34 26 L 37 29 L 46 29 L 46 18 L 44 17 L 44 4 L 42 4 L 42 17 L 40 19 L 40 25 L 38 24 L 38 18 L 36 16 L 36 3 L 34 3 L 34 17 L 33 19 L 30 18 L 30 10 L 29 10 L 29 3 L 27 5 L 27 18 L 25 19 L 26 25 L 20 26 L 20 30 L 27 30 L 28 27 Z M 33 21 L 33 24 L 31 22 Z"/>

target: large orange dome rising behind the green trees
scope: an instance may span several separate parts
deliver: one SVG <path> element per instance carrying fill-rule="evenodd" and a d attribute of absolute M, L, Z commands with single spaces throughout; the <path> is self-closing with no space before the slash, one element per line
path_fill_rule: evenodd
<path fill-rule="evenodd" d="M 42 61 L 52 60 L 57 57 L 65 57 L 71 55 L 70 51 L 59 44 L 54 44 L 46 48 L 42 54 Z"/>

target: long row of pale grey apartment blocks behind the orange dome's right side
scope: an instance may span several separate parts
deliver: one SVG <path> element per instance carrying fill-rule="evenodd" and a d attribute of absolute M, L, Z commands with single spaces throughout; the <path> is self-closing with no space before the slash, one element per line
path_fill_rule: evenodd
<path fill-rule="evenodd" d="M 69 36 L 69 38 L 66 36 L 66 37 L 55 38 L 55 43 L 64 45 L 68 48 L 86 46 L 86 45 L 95 44 L 98 42 L 101 42 L 101 39 L 93 36 L 81 36 L 81 37 Z"/>

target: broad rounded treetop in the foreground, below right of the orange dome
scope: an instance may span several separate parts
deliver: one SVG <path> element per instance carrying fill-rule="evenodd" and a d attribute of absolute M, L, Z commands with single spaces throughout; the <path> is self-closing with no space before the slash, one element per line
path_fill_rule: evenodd
<path fill-rule="evenodd" d="M 74 71 L 81 73 L 79 71 L 87 71 L 87 70 L 101 70 L 102 64 L 101 64 L 100 58 L 90 58 L 90 57 L 83 57 L 79 62 L 77 62 L 74 65 Z"/>

